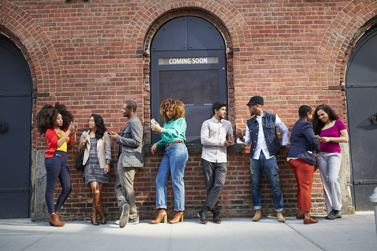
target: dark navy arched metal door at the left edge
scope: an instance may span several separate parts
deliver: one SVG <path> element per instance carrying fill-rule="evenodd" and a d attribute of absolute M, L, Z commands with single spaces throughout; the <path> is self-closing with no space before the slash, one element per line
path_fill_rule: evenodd
<path fill-rule="evenodd" d="M 0 35 L 0 218 L 29 218 L 32 80 L 20 49 Z"/>

